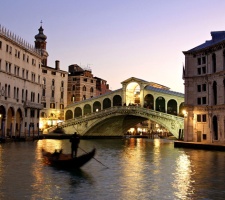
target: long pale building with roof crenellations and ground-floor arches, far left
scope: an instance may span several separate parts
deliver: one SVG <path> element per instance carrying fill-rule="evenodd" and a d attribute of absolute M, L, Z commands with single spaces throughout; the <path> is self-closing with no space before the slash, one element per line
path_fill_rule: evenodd
<path fill-rule="evenodd" d="M 39 132 L 41 52 L 0 26 L 0 137 Z"/>

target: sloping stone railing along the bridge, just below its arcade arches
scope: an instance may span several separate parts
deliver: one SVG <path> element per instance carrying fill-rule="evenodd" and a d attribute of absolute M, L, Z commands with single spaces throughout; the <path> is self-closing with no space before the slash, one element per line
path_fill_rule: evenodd
<path fill-rule="evenodd" d="M 62 128 L 67 126 L 72 126 L 72 125 L 87 122 L 96 118 L 104 117 L 109 114 L 111 115 L 114 113 L 136 114 L 140 116 L 154 115 L 154 116 L 160 116 L 167 119 L 177 120 L 180 122 L 183 121 L 183 117 L 179 117 L 179 116 L 175 116 L 175 115 L 171 115 L 171 114 L 167 114 L 167 113 L 163 113 L 163 112 L 159 112 L 159 111 L 155 111 L 155 110 L 151 110 L 151 109 L 143 108 L 139 106 L 114 106 L 114 107 L 106 108 L 104 110 L 99 110 L 98 112 L 88 113 L 80 117 L 76 117 L 73 119 L 66 120 L 64 122 L 60 122 L 57 126 Z"/>

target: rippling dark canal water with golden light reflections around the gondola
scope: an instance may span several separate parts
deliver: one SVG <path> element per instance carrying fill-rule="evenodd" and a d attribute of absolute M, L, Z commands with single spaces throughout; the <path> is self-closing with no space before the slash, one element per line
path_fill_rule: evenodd
<path fill-rule="evenodd" d="M 64 171 L 43 163 L 42 147 L 70 152 L 68 140 L 0 144 L 1 200 L 225 198 L 225 152 L 174 148 L 162 139 L 81 140 L 85 151 L 96 147 L 96 160 Z"/>

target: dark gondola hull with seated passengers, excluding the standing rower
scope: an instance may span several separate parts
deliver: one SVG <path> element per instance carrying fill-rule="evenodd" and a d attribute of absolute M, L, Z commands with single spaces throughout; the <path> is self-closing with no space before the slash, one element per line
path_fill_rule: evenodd
<path fill-rule="evenodd" d="M 77 169 L 90 161 L 94 157 L 95 151 L 96 149 L 94 148 L 92 151 L 87 152 L 81 156 L 71 158 L 71 154 L 62 153 L 62 149 L 60 151 L 55 150 L 54 153 L 50 153 L 42 149 L 42 155 L 45 163 L 50 166 L 64 169 Z"/>

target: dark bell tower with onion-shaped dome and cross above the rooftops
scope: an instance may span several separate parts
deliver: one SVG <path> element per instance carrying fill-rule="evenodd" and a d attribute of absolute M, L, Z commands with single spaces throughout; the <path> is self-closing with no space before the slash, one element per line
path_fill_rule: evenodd
<path fill-rule="evenodd" d="M 47 36 L 43 33 L 44 29 L 42 28 L 42 21 L 38 31 L 39 33 L 34 37 L 35 48 L 41 51 L 42 65 L 47 66 L 47 58 L 48 58 L 48 52 L 46 51 Z"/>

